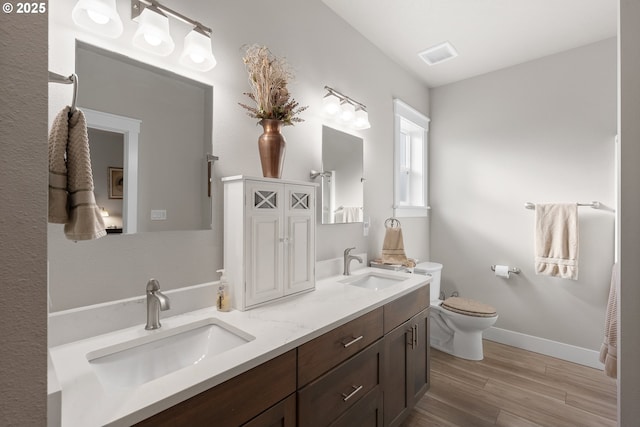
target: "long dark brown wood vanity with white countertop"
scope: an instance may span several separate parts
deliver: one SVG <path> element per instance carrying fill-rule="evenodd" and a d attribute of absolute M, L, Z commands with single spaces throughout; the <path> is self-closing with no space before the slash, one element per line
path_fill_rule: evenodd
<path fill-rule="evenodd" d="M 371 278 L 388 283 L 369 288 Z M 251 310 L 163 312 L 156 331 L 140 324 L 52 347 L 61 425 L 397 426 L 429 386 L 429 280 L 361 268 Z M 107 380 L 92 365 L 143 341 L 165 353 L 161 339 L 194 325 L 218 325 L 242 342 L 133 383 L 140 365 Z M 182 356 L 186 348 L 177 351 Z M 123 381 L 105 382 L 113 377 Z"/>

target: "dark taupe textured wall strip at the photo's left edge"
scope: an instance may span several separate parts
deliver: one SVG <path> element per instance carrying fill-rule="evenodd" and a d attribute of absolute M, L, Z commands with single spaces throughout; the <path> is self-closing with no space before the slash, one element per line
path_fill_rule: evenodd
<path fill-rule="evenodd" d="M 44 14 L 0 14 L 2 426 L 46 425 L 46 31 Z"/>

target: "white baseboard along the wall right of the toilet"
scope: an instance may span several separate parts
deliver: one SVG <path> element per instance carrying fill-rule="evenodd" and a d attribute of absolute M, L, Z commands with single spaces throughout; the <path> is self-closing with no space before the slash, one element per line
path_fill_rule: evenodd
<path fill-rule="evenodd" d="M 490 341 L 545 354 L 591 368 L 604 369 L 604 365 L 599 360 L 600 353 L 595 350 L 495 327 L 484 331 L 482 337 Z"/>

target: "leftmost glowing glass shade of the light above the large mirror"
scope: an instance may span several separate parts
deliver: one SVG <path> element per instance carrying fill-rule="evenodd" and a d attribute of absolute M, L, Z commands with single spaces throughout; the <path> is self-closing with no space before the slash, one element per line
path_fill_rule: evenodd
<path fill-rule="evenodd" d="M 79 0 L 71 12 L 73 22 L 85 30 L 109 38 L 122 34 L 116 0 Z"/>

